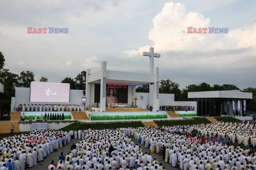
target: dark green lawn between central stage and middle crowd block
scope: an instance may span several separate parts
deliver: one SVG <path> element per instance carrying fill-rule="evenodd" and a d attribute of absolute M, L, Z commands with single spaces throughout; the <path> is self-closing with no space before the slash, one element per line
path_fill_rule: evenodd
<path fill-rule="evenodd" d="M 61 130 L 69 131 L 69 130 L 82 130 L 82 129 L 111 129 L 111 128 L 125 128 L 132 127 L 138 128 L 143 127 L 144 125 L 141 122 L 106 122 L 106 123 L 82 123 L 75 122 L 62 128 Z"/>

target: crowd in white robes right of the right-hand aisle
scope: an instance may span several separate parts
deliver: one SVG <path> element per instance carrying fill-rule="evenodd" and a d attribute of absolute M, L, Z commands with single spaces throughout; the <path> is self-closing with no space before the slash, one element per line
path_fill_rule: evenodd
<path fill-rule="evenodd" d="M 254 170 L 255 121 L 133 128 L 145 148 L 163 154 L 165 162 L 184 170 Z M 246 146 L 245 149 L 237 144 Z"/>

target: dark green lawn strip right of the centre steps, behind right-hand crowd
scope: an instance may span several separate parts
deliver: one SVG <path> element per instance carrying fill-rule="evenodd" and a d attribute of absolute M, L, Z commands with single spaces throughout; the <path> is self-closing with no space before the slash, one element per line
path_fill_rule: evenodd
<path fill-rule="evenodd" d="M 186 120 L 172 120 L 172 121 L 154 121 L 158 126 L 175 126 L 175 125 L 192 125 L 201 123 L 211 123 L 205 117 L 194 117 Z"/>

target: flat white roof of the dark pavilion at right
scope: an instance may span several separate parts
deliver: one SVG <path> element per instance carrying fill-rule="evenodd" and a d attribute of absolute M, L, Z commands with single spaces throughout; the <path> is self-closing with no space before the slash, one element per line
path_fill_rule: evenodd
<path fill-rule="evenodd" d="M 188 98 L 252 99 L 252 93 L 239 90 L 197 91 L 188 92 Z"/>

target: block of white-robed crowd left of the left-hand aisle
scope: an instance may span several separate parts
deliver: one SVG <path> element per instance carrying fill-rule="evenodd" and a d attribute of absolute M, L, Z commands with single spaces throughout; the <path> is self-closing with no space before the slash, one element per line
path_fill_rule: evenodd
<path fill-rule="evenodd" d="M 70 140 L 70 132 L 55 130 L 33 131 L 3 138 L 0 141 L 0 168 L 25 170 L 25 165 L 28 168 L 37 165 L 37 162 L 43 161 Z"/>

